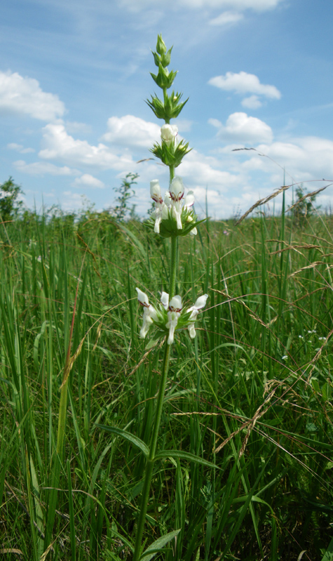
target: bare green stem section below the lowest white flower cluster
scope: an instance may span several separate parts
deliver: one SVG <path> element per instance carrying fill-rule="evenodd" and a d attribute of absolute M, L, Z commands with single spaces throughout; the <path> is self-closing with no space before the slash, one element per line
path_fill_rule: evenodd
<path fill-rule="evenodd" d="M 147 464 L 144 473 L 144 487 L 142 489 L 140 514 L 139 514 L 139 520 L 137 522 L 137 535 L 135 536 L 133 561 L 139 561 L 140 553 L 141 553 L 142 535 L 144 532 L 144 522 L 146 521 L 147 506 L 149 501 L 151 477 L 153 475 L 158 431 L 160 428 L 161 417 L 162 417 L 165 386 L 166 386 L 166 381 L 168 379 L 169 358 L 170 358 L 170 345 L 168 345 L 167 339 L 165 339 L 161 384 L 157 396 L 156 413 L 155 413 L 153 434 L 151 436 L 149 457 L 147 459 Z"/>

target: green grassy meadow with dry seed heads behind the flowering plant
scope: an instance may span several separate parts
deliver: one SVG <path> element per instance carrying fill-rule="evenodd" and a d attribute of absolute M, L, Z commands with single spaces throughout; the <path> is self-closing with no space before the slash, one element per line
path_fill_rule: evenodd
<path fill-rule="evenodd" d="M 331 232 L 256 217 L 179 241 L 177 293 L 209 299 L 172 346 L 158 447 L 214 466 L 155 462 L 146 546 L 180 529 L 156 560 L 333 559 Z M 107 427 L 149 444 L 162 356 L 135 287 L 168 290 L 169 241 L 93 212 L 0 236 L 0 558 L 130 561 L 145 460 Z"/>

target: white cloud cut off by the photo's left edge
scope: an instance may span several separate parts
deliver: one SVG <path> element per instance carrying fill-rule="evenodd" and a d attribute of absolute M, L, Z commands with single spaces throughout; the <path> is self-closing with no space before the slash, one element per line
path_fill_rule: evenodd
<path fill-rule="evenodd" d="M 0 71 L 0 112 L 55 121 L 64 114 L 64 104 L 57 95 L 43 92 L 34 78 L 23 78 L 18 72 Z"/>

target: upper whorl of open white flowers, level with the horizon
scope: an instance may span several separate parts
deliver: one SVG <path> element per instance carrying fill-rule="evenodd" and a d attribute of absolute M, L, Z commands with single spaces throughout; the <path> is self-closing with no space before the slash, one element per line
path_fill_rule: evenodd
<path fill-rule="evenodd" d="M 196 215 L 194 215 L 192 208 L 194 203 L 193 191 L 189 191 L 184 197 L 182 177 L 176 176 L 173 178 L 169 190 L 165 193 L 164 201 L 158 180 L 151 181 L 150 196 L 155 203 L 151 218 L 155 221 L 154 231 L 157 234 L 161 234 L 164 238 L 186 236 L 189 232 L 197 234 Z M 152 222 L 150 224 L 152 225 Z"/>

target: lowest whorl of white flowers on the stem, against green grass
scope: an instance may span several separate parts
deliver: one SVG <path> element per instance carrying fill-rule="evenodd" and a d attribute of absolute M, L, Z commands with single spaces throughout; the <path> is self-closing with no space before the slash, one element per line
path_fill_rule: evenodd
<path fill-rule="evenodd" d="M 143 323 L 140 330 L 140 337 L 146 337 L 149 327 L 155 325 L 162 334 L 168 333 L 168 345 L 171 345 L 175 339 L 175 330 L 187 328 L 189 336 L 193 339 L 196 337 L 195 322 L 198 316 L 198 311 L 202 309 L 208 299 L 208 294 L 198 297 L 196 303 L 189 308 L 183 309 L 182 298 L 177 295 L 170 299 L 167 292 L 162 292 L 161 303 L 158 308 L 154 308 L 149 304 L 147 294 L 142 292 L 140 288 L 137 290 L 137 299 L 143 306 Z M 158 334 L 157 339 L 161 337 Z"/>

